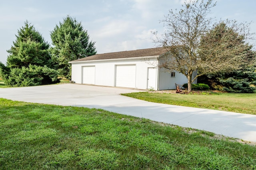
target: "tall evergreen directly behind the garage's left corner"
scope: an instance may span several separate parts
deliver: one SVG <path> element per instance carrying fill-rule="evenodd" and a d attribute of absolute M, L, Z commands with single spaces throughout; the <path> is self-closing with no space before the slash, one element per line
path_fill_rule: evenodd
<path fill-rule="evenodd" d="M 71 79 L 71 64 L 69 61 L 96 54 L 95 42 L 89 40 L 87 31 L 82 23 L 75 18 L 67 16 L 63 22 L 54 27 L 50 33 L 52 44 L 52 58 L 56 68 L 62 76 Z"/>

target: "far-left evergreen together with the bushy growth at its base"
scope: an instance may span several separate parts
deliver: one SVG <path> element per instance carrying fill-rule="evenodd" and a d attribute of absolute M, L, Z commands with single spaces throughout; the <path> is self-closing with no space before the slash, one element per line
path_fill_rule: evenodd
<path fill-rule="evenodd" d="M 0 76 L 7 86 L 35 86 L 58 82 L 58 72 L 53 69 L 49 43 L 25 21 L 18 30 L 16 40 L 7 50 L 6 66 L 0 63 Z"/>

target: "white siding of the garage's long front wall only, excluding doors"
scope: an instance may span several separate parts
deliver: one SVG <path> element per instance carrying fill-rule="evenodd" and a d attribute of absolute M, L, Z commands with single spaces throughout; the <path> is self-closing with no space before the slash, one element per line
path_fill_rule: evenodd
<path fill-rule="evenodd" d="M 83 66 L 95 66 L 95 85 L 116 86 L 116 65 L 136 65 L 135 85 L 133 88 L 148 88 L 148 67 L 156 67 L 158 61 L 149 59 L 124 59 L 112 61 L 84 61 L 72 63 L 72 80 L 78 84 L 82 83 Z M 155 69 L 156 75 L 158 69 Z M 157 81 L 157 80 L 156 80 Z M 157 86 L 156 89 L 157 90 Z"/>

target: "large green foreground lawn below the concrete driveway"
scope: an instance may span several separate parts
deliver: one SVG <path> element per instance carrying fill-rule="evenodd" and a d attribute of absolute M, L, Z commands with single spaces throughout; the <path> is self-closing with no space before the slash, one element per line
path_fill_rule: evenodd
<path fill-rule="evenodd" d="M 1 170 L 255 170 L 256 147 L 84 107 L 0 99 Z"/>

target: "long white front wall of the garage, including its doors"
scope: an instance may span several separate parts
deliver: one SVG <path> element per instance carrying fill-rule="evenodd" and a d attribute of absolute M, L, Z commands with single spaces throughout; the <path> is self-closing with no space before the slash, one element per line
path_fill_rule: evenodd
<path fill-rule="evenodd" d="M 150 88 L 157 90 L 158 69 L 155 68 L 157 62 L 156 57 L 80 61 L 72 63 L 72 80 L 78 84 L 137 89 L 147 89 L 150 84 Z M 88 80 L 85 80 L 86 78 Z"/>

